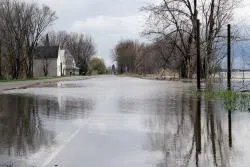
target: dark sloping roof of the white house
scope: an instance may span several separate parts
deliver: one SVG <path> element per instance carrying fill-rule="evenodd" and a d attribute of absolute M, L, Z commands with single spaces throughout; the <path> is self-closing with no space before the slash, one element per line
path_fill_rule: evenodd
<path fill-rule="evenodd" d="M 39 46 L 35 51 L 35 58 L 52 58 L 58 57 L 59 46 Z"/>

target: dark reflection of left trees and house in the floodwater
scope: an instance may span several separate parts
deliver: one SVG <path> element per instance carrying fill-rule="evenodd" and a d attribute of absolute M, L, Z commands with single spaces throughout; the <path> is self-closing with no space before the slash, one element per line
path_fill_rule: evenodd
<path fill-rule="evenodd" d="M 27 166 L 40 149 L 56 144 L 50 120 L 86 117 L 92 102 L 72 98 L 0 95 L 0 166 Z"/>

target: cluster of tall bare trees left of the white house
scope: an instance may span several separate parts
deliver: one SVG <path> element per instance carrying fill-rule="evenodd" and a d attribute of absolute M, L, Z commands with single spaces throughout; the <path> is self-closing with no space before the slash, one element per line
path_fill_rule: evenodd
<path fill-rule="evenodd" d="M 34 51 L 56 19 L 55 11 L 46 5 L 17 0 L 0 2 L 0 77 L 3 72 L 13 79 L 33 77 Z"/>

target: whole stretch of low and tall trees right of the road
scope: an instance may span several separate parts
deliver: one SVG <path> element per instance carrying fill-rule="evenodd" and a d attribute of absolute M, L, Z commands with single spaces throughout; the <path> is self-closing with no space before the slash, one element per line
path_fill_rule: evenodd
<path fill-rule="evenodd" d="M 202 66 L 202 77 L 210 77 L 220 68 L 226 56 L 225 31 L 239 2 L 161 0 L 157 4 L 143 7 L 142 10 L 147 12 L 149 17 L 142 34 L 153 42 L 150 45 L 131 41 L 130 44 L 127 41 L 120 42 L 115 49 L 119 68 L 124 69 L 123 66 L 126 66 L 130 72 L 139 73 L 151 73 L 158 68 L 172 68 L 179 72 L 180 77 L 192 78 L 196 74 L 199 18 L 202 55 L 199 63 Z"/>

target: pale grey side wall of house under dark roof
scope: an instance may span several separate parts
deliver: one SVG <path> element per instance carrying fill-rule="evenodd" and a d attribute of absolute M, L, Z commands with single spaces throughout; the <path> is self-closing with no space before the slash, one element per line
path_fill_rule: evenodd
<path fill-rule="evenodd" d="M 33 61 L 33 75 L 34 77 L 42 77 L 44 76 L 44 59 L 34 59 Z M 48 77 L 54 77 L 57 76 L 57 59 L 47 59 L 47 65 L 48 65 Z"/>

